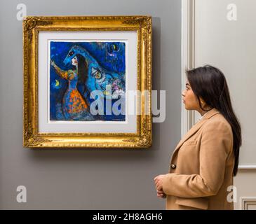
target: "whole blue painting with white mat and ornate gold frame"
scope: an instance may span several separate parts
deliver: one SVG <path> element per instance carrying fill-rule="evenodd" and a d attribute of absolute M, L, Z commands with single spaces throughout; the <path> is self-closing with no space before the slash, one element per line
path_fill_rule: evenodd
<path fill-rule="evenodd" d="M 151 17 L 23 20 L 27 148 L 151 146 Z"/>

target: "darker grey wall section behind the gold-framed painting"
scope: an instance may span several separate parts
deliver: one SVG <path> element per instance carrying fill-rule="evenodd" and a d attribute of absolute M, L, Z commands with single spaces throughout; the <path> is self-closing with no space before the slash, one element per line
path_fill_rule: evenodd
<path fill-rule="evenodd" d="M 166 90 L 166 120 L 148 150 L 34 151 L 22 148 L 22 22 L 27 15 L 152 15 L 153 90 Z M 0 209 L 164 209 L 153 178 L 168 172 L 180 141 L 180 0 L 0 2 Z M 16 187 L 27 187 L 27 203 Z"/>

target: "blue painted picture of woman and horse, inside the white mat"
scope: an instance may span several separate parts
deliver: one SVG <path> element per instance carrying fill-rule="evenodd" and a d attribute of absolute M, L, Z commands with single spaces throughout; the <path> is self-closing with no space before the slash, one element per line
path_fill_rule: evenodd
<path fill-rule="evenodd" d="M 50 120 L 125 121 L 125 56 L 123 42 L 50 41 Z"/>

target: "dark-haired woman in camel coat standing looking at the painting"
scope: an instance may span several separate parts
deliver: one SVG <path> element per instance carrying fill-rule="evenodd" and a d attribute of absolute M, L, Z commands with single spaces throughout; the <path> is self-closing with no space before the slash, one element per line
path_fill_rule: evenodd
<path fill-rule="evenodd" d="M 185 109 L 201 120 L 175 148 L 168 174 L 156 176 L 166 209 L 234 209 L 230 197 L 238 171 L 241 125 L 234 114 L 224 74 L 213 66 L 187 71 Z"/>

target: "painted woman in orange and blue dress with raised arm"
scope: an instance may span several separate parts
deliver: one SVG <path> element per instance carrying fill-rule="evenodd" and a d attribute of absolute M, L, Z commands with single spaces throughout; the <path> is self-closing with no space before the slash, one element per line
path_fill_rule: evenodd
<path fill-rule="evenodd" d="M 74 71 L 72 69 L 63 71 L 53 61 L 50 61 L 50 64 L 60 77 L 65 78 L 68 81 L 68 87 L 62 99 L 62 112 L 65 119 L 94 120 L 93 116 L 90 115 L 90 108 L 86 103 L 86 100 L 83 99 L 81 93 L 77 89 L 77 84 L 79 79 L 81 79 L 81 74 L 79 76 L 78 58 L 76 56 L 72 58 L 72 65 L 76 67 Z"/>

